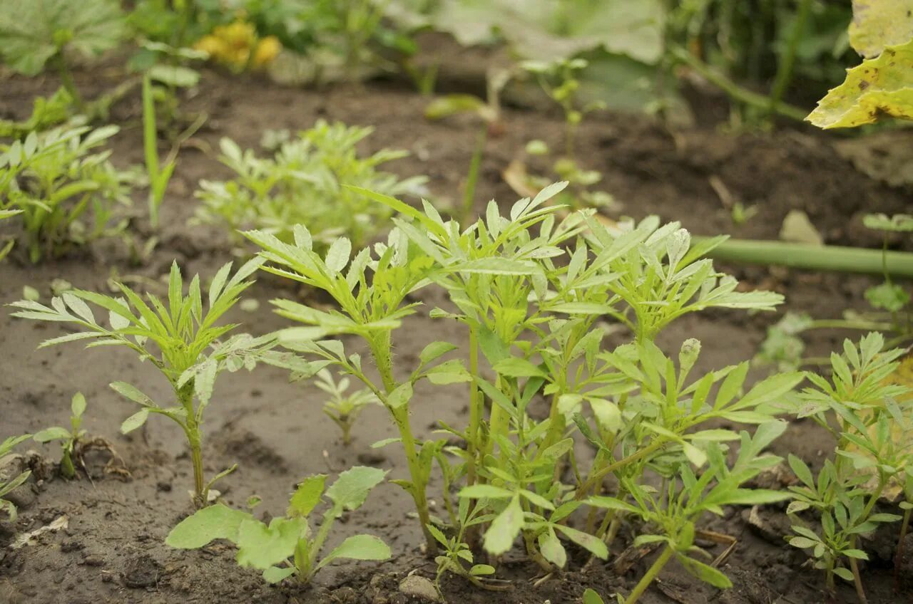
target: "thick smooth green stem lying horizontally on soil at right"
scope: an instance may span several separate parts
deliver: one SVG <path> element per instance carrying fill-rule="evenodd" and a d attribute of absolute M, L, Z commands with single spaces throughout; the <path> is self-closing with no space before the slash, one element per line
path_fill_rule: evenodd
<path fill-rule="evenodd" d="M 694 243 L 702 240 L 694 237 Z M 729 239 L 708 252 L 716 260 L 750 265 L 779 265 L 838 273 L 913 277 L 913 253 L 887 252 L 840 245 L 790 244 Z"/>

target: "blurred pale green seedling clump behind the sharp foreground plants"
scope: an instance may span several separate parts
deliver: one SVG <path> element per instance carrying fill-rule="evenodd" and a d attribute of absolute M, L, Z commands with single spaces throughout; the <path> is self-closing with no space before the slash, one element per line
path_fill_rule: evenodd
<path fill-rule="evenodd" d="M 234 141 L 220 143 L 220 160 L 235 172 L 226 182 L 203 181 L 197 213 L 205 223 L 231 229 L 259 229 L 285 243 L 292 226 L 305 225 L 321 249 L 345 236 L 366 245 L 390 216 L 383 206 L 342 185 L 367 187 L 387 194 L 418 193 L 424 178 L 401 181 L 381 164 L 404 157 L 405 151 L 383 150 L 362 157 L 356 145 L 373 129 L 323 120 L 283 142 L 272 158 L 242 151 Z"/>

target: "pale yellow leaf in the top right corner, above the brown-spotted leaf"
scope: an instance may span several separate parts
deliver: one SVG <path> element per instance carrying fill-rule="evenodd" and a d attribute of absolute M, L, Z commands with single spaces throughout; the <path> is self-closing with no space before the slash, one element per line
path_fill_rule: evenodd
<path fill-rule="evenodd" d="M 913 0 L 853 0 L 850 44 L 866 58 L 913 38 Z"/>

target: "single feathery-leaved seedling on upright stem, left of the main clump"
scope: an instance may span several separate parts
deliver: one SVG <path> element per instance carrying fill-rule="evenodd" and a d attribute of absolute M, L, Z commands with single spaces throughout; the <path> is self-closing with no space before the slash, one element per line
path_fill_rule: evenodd
<path fill-rule="evenodd" d="M 110 384 L 114 391 L 141 407 L 123 422 L 121 431 L 136 430 L 151 413 L 163 415 L 180 425 L 194 458 L 194 500 L 197 505 L 205 505 L 209 485 L 204 484 L 202 475 L 200 424 L 212 399 L 218 374 L 223 370 L 252 370 L 257 362 L 289 370 L 308 370 L 307 363 L 298 361 L 293 355 L 273 351 L 273 337 L 254 338 L 242 334 L 225 341 L 221 339 L 237 326 L 220 325 L 219 319 L 235 306 L 238 297 L 251 285 L 252 282 L 246 279 L 259 264 L 259 260 L 247 262 L 234 275 L 231 263 L 222 266 L 213 277 L 206 299 L 199 276 L 191 279 L 187 294 L 184 294 L 184 279 L 175 263 L 169 276 L 168 296 L 164 300 L 150 292 L 146 296 L 148 302 L 144 301 L 130 287 L 118 284 L 121 297 L 71 289 L 54 297 L 49 307 L 29 300 L 10 306 L 16 308 L 14 317 L 64 322 L 78 328 L 42 342 L 39 348 L 77 340 L 90 340 L 87 348 L 124 346 L 162 372 L 172 386 L 175 406 L 160 405 L 126 382 Z M 105 311 L 103 318 L 97 318 L 89 304 Z"/>

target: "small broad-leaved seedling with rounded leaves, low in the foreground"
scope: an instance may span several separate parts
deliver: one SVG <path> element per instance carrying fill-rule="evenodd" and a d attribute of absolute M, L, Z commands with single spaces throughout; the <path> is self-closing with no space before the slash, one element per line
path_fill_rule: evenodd
<path fill-rule="evenodd" d="M 336 520 L 345 512 L 361 507 L 385 475 L 383 470 L 356 466 L 340 474 L 326 492 L 326 476 L 310 476 L 299 484 L 289 499 L 286 515 L 274 517 L 269 525 L 248 512 L 221 504 L 211 505 L 175 526 L 165 543 L 171 547 L 195 549 L 214 539 L 227 539 L 237 546 L 238 565 L 262 570 L 263 578 L 269 583 L 278 583 L 293 575 L 300 582 L 308 583 L 320 568 L 341 558 L 385 560 L 390 557 L 390 547 L 371 535 L 350 536 L 328 555 L 320 557 L 320 550 Z M 308 518 L 323 496 L 330 499 L 331 505 L 315 534 Z"/>

